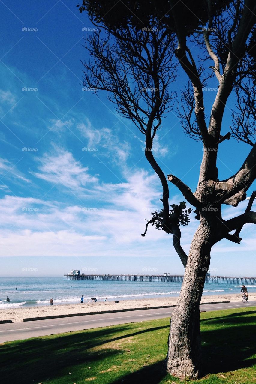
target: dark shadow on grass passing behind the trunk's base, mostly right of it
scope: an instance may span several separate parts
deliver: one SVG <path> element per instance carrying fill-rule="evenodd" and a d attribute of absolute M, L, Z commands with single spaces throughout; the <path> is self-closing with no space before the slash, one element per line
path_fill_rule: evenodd
<path fill-rule="evenodd" d="M 255 325 L 249 324 L 251 319 L 246 318 L 245 314 L 254 314 L 255 312 L 239 312 L 223 317 L 212 318 L 212 324 L 223 324 L 223 329 L 203 330 L 203 376 L 216 374 L 219 372 L 235 371 L 237 369 L 248 368 L 256 363 L 255 358 L 251 358 L 256 353 L 256 333 Z M 209 320 L 209 319 L 204 319 Z M 228 324 L 226 324 L 228 323 Z M 205 324 L 207 326 L 207 324 Z M 162 371 L 164 361 L 160 361 L 148 367 L 142 367 L 136 372 L 124 375 L 119 380 L 111 384 L 133 383 L 133 384 L 158 384 L 166 373 Z M 172 381 L 172 376 L 168 377 Z M 169 382 L 169 381 L 168 381 Z"/>

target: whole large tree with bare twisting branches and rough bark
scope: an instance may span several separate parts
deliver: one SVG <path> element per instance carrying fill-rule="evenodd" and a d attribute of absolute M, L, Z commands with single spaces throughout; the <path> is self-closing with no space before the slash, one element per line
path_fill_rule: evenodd
<path fill-rule="evenodd" d="M 88 12 L 98 28 L 86 40 L 91 60 L 83 63 L 83 84 L 107 91 L 117 111 L 145 135 L 146 159 L 163 187 L 163 208 L 148 220 L 146 230 L 152 224 L 173 234 L 173 245 L 185 267 L 171 317 L 165 367 L 174 376 L 198 378 L 202 374 L 199 303 L 211 248 L 223 238 L 239 244 L 243 225 L 256 223 L 256 212 L 251 212 L 254 193 L 244 214 L 230 220 L 221 214 L 223 204 L 236 207 L 246 199 L 256 177 L 256 4 L 253 0 L 83 0 L 78 7 Z M 196 55 L 191 53 L 192 45 L 197 46 Z M 209 61 L 209 68 L 204 68 Z M 178 96 L 171 89 L 181 70 L 188 83 Z M 214 76 L 218 91 L 207 118 L 203 88 Z M 223 114 L 231 93 L 237 104 L 230 131 L 223 134 Z M 199 220 L 188 255 L 181 247 L 180 225 L 188 224 L 191 209 L 186 209 L 185 202 L 170 209 L 168 181 L 152 153 L 162 118 L 172 108 L 178 109 L 185 134 L 202 141 L 204 151 L 194 193 L 175 175 L 167 177 L 195 208 Z M 218 148 L 231 135 L 252 148 L 234 175 L 219 180 Z"/>

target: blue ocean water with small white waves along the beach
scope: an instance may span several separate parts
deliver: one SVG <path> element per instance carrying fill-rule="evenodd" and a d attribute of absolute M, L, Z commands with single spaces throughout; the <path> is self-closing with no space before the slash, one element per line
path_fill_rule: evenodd
<path fill-rule="evenodd" d="M 17 290 L 15 289 L 17 288 Z M 248 293 L 256 292 L 256 285 L 247 285 Z M 69 281 L 63 277 L 41 278 L 0 278 L 0 308 L 18 308 L 20 306 L 49 305 L 53 303 L 80 303 L 81 295 L 84 302 L 96 297 L 103 301 L 106 297 L 112 300 L 132 300 L 139 298 L 177 297 L 181 283 L 148 283 L 133 281 Z M 203 295 L 227 295 L 240 293 L 241 286 L 228 284 L 206 284 Z M 7 296 L 10 303 L 7 303 Z"/>

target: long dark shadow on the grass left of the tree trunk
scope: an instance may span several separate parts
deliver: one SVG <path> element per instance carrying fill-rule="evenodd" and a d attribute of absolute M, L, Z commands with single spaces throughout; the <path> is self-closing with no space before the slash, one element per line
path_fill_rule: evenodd
<path fill-rule="evenodd" d="M 138 324 L 139 327 L 139 324 Z M 130 338 L 143 333 L 169 328 L 159 326 L 141 329 L 133 332 L 135 324 L 122 327 L 108 327 L 95 329 L 88 332 L 70 333 L 61 337 L 33 338 L 17 341 L 0 346 L 0 361 L 2 365 L 1 375 L 3 382 L 8 384 L 29 384 L 58 378 L 67 374 L 67 367 L 72 366 L 73 372 L 80 364 L 97 363 L 99 361 L 120 353 L 119 349 L 101 349 L 100 351 L 88 351 L 90 348 L 103 346 L 106 343 Z M 113 337 L 115 332 L 122 333 Z M 129 332 L 130 331 L 130 332 Z"/>

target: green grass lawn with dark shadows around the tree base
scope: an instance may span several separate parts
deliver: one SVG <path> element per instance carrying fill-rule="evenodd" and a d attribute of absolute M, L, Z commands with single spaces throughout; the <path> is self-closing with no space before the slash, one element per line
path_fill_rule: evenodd
<path fill-rule="evenodd" d="M 200 384 L 256 382 L 256 307 L 201 314 Z M 192 383 L 162 372 L 169 319 L 0 344 L 2 384 Z M 194 381 L 193 381 L 194 383 Z"/>

